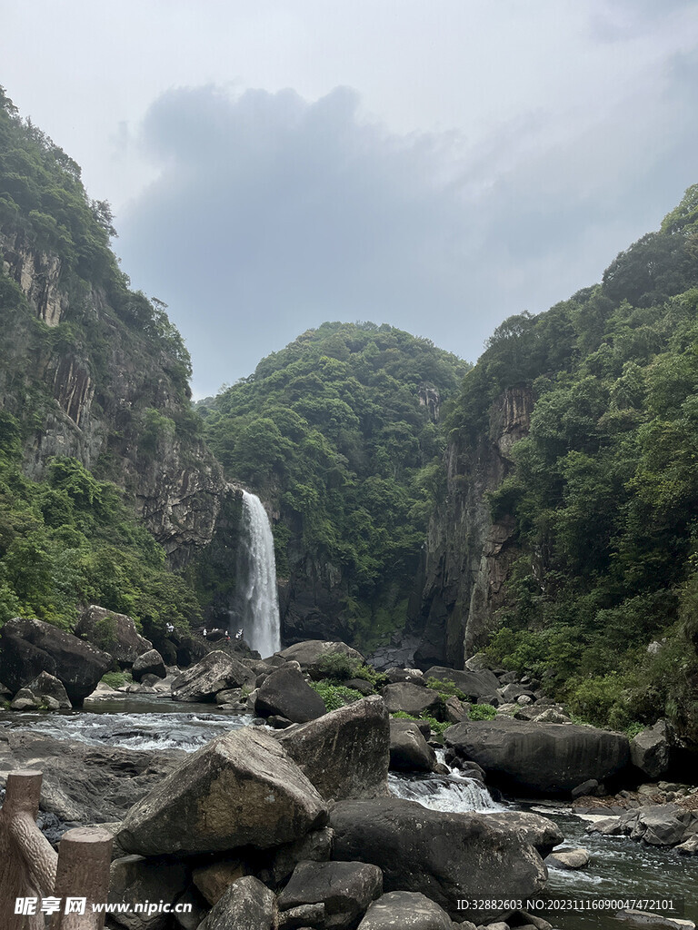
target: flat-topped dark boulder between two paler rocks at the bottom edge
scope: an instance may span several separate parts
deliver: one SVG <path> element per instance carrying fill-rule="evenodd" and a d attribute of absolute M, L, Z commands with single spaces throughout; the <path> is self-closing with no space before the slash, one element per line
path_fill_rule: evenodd
<path fill-rule="evenodd" d="M 364 862 L 301 862 L 277 899 L 283 911 L 323 904 L 324 930 L 354 930 L 371 901 L 383 892 L 383 872 Z"/>

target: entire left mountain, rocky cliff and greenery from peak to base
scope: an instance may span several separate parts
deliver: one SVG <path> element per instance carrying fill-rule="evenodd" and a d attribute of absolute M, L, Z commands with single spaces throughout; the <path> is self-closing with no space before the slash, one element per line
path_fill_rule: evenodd
<path fill-rule="evenodd" d="M 166 554 L 208 541 L 221 472 L 181 336 L 130 290 L 112 235 L 79 166 L 0 88 L 0 623 L 70 628 L 90 602 L 151 631 L 200 616 Z"/>

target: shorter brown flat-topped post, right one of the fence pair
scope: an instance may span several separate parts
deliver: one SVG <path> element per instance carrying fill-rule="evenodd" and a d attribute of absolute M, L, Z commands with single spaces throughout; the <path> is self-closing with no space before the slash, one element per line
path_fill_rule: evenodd
<path fill-rule="evenodd" d="M 109 895 L 109 867 L 112 862 L 112 834 L 100 828 L 68 830 L 60 839 L 55 897 L 60 897 L 60 914 L 55 930 L 101 930 L 105 911 L 95 912 L 93 904 L 105 904 Z M 85 898 L 85 912 L 66 913 L 66 899 Z"/>

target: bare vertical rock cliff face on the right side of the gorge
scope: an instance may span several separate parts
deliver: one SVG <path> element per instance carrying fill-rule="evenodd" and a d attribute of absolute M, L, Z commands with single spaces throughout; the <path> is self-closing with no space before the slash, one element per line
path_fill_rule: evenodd
<path fill-rule="evenodd" d="M 477 444 L 456 438 L 447 451 L 447 496 L 431 521 L 426 546 L 422 665 L 463 660 L 487 644 L 505 581 L 517 558 L 515 522 L 490 515 L 488 492 L 512 468 L 512 446 L 529 432 L 532 395 L 510 388 L 490 408 L 489 430 Z"/>

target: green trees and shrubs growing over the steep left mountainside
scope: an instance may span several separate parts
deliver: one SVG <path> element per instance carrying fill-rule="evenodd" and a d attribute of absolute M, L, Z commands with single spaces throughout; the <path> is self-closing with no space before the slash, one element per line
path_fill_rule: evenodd
<path fill-rule="evenodd" d="M 163 432 L 199 429 L 189 355 L 164 306 L 129 290 L 112 235 L 109 206 L 87 198 L 79 167 L 20 119 L 0 88 L 0 252 L 10 263 L 20 251 L 57 259 L 65 298 L 59 325 L 47 326 L 0 273 L 0 625 L 20 615 L 70 629 L 85 603 L 124 611 L 151 632 L 166 620 L 184 626 L 200 616 L 191 588 L 166 569 L 164 551 L 124 495 L 120 455 L 137 446 L 147 466 Z M 54 392 L 60 373 L 66 366 L 85 372 L 95 386 L 93 418 L 114 424 L 125 360 L 143 381 L 156 370 L 159 383 L 120 415 L 95 473 L 76 459 L 54 458 L 41 480 L 31 480 L 26 445 L 47 421 L 77 432 Z M 155 406 L 157 392 L 168 398 L 167 416 Z M 114 476 L 122 489 L 98 476 Z"/>

